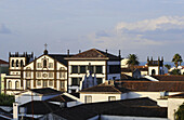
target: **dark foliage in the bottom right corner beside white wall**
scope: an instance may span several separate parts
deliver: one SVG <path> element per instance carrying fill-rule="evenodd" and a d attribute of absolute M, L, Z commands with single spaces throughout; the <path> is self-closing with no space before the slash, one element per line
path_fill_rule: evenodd
<path fill-rule="evenodd" d="M 184 120 L 184 103 L 179 107 L 178 111 L 174 115 L 175 120 Z"/>

